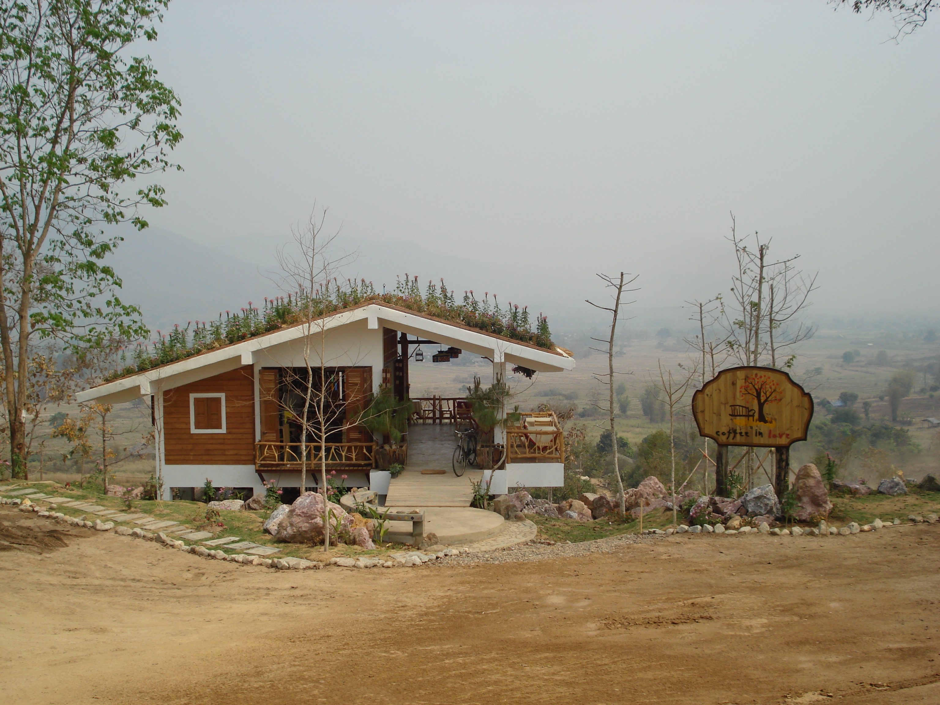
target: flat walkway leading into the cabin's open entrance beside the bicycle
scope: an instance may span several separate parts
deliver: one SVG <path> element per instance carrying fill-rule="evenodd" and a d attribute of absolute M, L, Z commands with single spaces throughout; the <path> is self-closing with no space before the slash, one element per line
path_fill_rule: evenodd
<path fill-rule="evenodd" d="M 468 469 L 462 478 L 454 475 L 450 458 L 456 441 L 454 427 L 418 425 L 408 429 L 408 464 L 388 486 L 385 507 L 469 507 L 473 498 L 470 480 L 479 481 L 481 470 Z M 445 470 L 444 475 L 422 475 L 422 470 Z"/>

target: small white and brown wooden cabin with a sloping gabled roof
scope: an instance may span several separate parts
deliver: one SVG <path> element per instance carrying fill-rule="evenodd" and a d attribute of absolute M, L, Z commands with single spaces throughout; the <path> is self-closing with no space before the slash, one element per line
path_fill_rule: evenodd
<path fill-rule="evenodd" d="M 165 499 L 175 488 L 185 496 L 207 478 L 215 487 L 263 493 L 264 480 L 282 488 L 300 485 L 298 419 L 304 418 L 309 385 L 324 391 L 329 432 L 325 443 L 306 439 L 303 444 L 307 482 L 314 484 L 313 466 L 325 454 L 327 467 L 347 476 L 345 484 L 382 493 L 388 485 L 388 473 L 376 467 L 376 441 L 382 439 L 356 420 L 382 385 L 399 399 L 408 395 L 409 347 L 416 341 L 487 357 L 493 379 L 506 379 L 507 365 L 540 372 L 574 367 L 572 356 L 558 348 L 371 302 L 101 384 L 81 392 L 78 400 L 151 401 Z M 415 406 L 416 418 L 446 415 L 440 399 L 416 400 Z M 563 484 L 561 430 L 551 420 L 530 416 L 519 428 L 496 431 L 507 458 L 504 467 L 493 470 L 494 493 L 517 484 Z"/>

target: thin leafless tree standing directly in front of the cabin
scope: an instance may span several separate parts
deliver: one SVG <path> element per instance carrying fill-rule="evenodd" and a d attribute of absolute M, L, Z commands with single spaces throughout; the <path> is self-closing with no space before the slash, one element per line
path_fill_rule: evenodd
<path fill-rule="evenodd" d="M 326 211 L 327 209 L 323 208 L 318 214 L 315 205 L 305 224 L 291 227 L 293 251 L 286 247 L 279 247 L 277 250 L 277 261 L 283 273 L 282 282 L 285 290 L 292 292 L 299 299 L 297 307 L 303 316 L 301 325 L 304 331 L 302 374 L 298 375 L 293 369 L 285 368 L 289 395 L 300 396 L 300 410 L 297 413 L 298 410 L 288 399 L 287 403 L 290 408 L 286 411 L 293 415 L 292 420 L 300 427 L 301 494 L 306 492 L 307 437 L 312 439 L 315 448 L 320 447 L 319 485 L 324 503 L 324 551 L 328 551 L 330 545 L 329 493 L 326 473 L 327 442 L 333 425 L 340 415 L 344 415 L 344 411 L 335 403 L 336 399 L 331 399 L 330 396 L 331 388 L 335 388 L 337 384 L 341 394 L 343 381 L 336 370 L 331 370 L 327 366 L 328 321 L 326 320 L 327 311 L 324 310 L 322 303 L 329 300 L 331 288 L 339 286 L 337 283 L 339 269 L 355 258 L 354 253 L 339 257 L 331 254 L 331 246 L 337 239 L 342 225 L 331 235 L 324 233 Z M 313 414 L 310 413 L 311 409 Z"/>

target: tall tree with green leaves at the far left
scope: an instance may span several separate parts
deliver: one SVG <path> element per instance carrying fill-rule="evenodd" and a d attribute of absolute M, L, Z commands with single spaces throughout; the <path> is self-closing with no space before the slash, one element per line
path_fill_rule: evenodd
<path fill-rule="evenodd" d="M 102 263 L 121 238 L 99 228 L 142 229 L 138 207 L 165 203 L 159 185 L 129 182 L 173 166 L 180 102 L 127 51 L 157 38 L 167 3 L 0 0 L 0 345 L 15 478 L 33 341 L 81 352 L 147 333 Z"/>

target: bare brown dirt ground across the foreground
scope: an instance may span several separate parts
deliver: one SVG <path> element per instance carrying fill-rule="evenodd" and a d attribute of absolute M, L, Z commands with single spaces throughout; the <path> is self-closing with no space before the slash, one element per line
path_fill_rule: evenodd
<path fill-rule="evenodd" d="M 940 703 L 940 525 L 276 572 L 0 521 L 10 705 Z"/>

